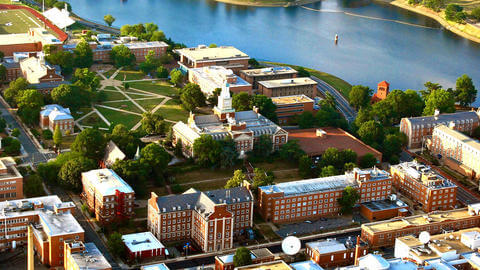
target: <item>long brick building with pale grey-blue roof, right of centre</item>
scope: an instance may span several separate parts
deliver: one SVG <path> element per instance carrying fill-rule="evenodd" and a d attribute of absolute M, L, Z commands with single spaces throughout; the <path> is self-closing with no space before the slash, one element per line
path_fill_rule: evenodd
<path fill-rule="evenodd" d="M 384 200 L 391 193 L 390 175 L 377 168 L 358 169 L 343 175 L 279 183 L 258 188 L 258 210 L 274 223 L 290 223 L 338 214 L 337 199 L 351 186 L 359 202 Z"/>

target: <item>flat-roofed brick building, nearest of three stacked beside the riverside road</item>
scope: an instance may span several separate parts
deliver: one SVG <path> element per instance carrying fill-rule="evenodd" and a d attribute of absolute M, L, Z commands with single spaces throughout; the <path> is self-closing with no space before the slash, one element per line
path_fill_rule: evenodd
<path fill-rule="evenodd" d="M 286 124 L 288 120 L 303 112 L 312 112 L 315 101 L 305 95 L 272 97 L 272 102 L 277 106 L 278 123 Z"/>

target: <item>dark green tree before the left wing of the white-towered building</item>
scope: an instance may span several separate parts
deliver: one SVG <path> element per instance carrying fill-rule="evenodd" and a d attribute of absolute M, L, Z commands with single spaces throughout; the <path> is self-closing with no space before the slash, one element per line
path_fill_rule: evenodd
<path fill-rule="evenodd" d="M 219 163 L 222 146 L 212 136 L 203 134 L 193 143 L 195 160 L 204 167 L 214 166 Z"/>

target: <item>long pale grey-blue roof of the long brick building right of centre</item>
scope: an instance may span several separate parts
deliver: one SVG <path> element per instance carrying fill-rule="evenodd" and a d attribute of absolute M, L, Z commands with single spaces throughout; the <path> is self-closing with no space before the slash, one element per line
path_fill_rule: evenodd
<path fill-rule="evenodd" d="M 361 175 L 370 175 L 370 180 L 387 180 L 390 179 L 390 174 L 386 171 L 373 169 L 358 169 L 355 168 L 351 172 L 345 172 L 342 175 L 335 175 L 322 178 L 313 178 L 307 180 L 284 182 L 276 185 L 259 187 L 264 193 L 281 193 L 284 196 L 297 196 L 302 194 L 310 194 L 316 192 L 330 191 L 330 190 L 343 190 L 347 186 L 357 187 L 357 179 L 355 179 L 355 173 Z"/>

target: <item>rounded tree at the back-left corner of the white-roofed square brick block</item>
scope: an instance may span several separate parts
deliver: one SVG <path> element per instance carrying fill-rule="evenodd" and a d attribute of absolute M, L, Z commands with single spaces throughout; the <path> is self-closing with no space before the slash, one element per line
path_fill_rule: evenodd
<path fill-rule="evenodd" d="M 58 173 L 60 184 L 65 188 L 80 191 L 82 189 L 82 172 L 87 172 L 95 168 L 97 168 L 97 164 L 92 159 L 86 157 L 71 159 L 63 164 Z"/>

